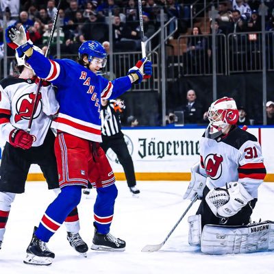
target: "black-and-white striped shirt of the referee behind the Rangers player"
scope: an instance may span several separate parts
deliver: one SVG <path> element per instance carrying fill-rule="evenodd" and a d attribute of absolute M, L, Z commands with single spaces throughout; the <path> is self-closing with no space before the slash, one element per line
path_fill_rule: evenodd
<path fill-rule="evenodd" d="M 114 110 L 115 101 L 101 105 L 101 129 L 104 136 L 113 136 L 121 132 L 120 114 Z"/>

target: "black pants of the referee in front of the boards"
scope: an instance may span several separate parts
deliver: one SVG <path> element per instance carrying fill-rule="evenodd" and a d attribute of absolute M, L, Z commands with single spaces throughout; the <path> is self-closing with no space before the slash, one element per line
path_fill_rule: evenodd
<path fill-rule="evenodd" d="M 132 156 L 129 154 L 127 144 L 125 142 L 123 133 L 115 134 L 114 136 L 103 136 L 103 142 L 101 147 L 105 153 L 108 149 L 112 149 L 116 153 L 120 164 L 123 166 L 125 171 L 125 177 L 127 179 L 127 186 L 136 186 L 136 178 L 134 173 L 134 165 L 132 162 Z"/>

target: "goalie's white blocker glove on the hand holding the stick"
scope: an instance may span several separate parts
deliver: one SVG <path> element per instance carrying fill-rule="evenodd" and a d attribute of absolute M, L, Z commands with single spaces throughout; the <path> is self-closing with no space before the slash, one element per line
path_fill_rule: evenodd
<path fill-rule="evenodd" d="M 191 168 L 191 180 L 183 199 L 190 199 L 192 201 L 196 193 L 198 194 L 199 199 L 203 197 L 203 188 L 206 186 L 206 177 L 203 177 L 203 175 L 199 174 L 198 171 L 199 162 Z"/>

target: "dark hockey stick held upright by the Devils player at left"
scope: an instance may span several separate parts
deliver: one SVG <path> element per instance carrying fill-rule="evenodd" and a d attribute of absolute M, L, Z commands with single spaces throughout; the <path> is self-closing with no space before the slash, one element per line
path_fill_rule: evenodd
<path fill-rule="evenodd" d="M 57 5 L 57 11 L 56 11 L 56 14 L 55 14 L 55 17 L 54 17 L 53 26 L 52 26 L 52 29 L 51 29 L 51 35 L 49 36 L 49 42 L 47 43 L 47 51 L 45 53 L 45 57 L 47 57 L 47 53 L 49 53 L 49 48 L 51 47 L 51 41 L 53 39 L 53 34 L 54 34 L 54 31 L 55 31 L 55 27 L 56 27 L 58 15 L 59 15 L 60 4 L 61 4 L 61 0 L 59 0 L 58 5 Z M 38 83 L 38 87 L 37 87 L 37 90 L 36 90 L 36 93 L 35 93 L 35 97 L 34 97 L 34 104 L 33 104 L 33 108 L 32 108 L 32 114 L 29 117 L 29 125 L 27 126 L 27 133 L 30 132 L 30 129 L 32 127 L 32 121 L 34 121 L 34 114 L 36 112 L 36 108 L 37 108 L 37 105 L 38 105 L 38 98 L 39 98 L 38 95 L 40 94 L 41 87 L 42 87 L 42 79 L 40 78 L 39 83 Z"/>

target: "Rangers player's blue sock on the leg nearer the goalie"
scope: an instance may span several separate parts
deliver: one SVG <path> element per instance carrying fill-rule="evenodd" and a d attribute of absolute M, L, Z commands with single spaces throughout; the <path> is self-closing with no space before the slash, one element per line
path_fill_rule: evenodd
<path fill-rule="evenodd" d="M 114 203 L 118 190 L 115 184 L 106 188 L 97 188 L 97 198 L 94 206 L 94 218 L 97 232 L 108 234 L 114 214 Z"/>

